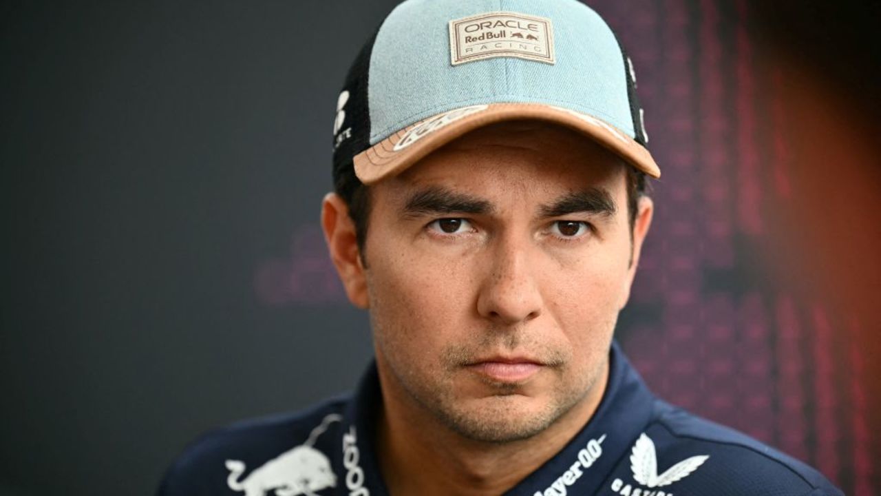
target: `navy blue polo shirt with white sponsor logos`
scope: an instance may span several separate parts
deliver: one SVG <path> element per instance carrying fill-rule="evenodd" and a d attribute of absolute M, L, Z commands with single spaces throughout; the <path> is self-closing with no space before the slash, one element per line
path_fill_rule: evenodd
<path fill-rule="evenodd" d="M 508 491 L 524 496 L 841 495 L 816 470 L 655 398 L 617 344 L 596 414 Z M 218 429 L 168 470 L 159 496 L 387 496 L 374 447 L 375 365 L 354 395 Z"/>

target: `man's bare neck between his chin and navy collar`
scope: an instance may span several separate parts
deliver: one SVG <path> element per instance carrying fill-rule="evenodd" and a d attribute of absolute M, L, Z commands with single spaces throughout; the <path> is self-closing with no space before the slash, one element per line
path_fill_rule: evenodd
<path fill-rule="evenodd" d="M 608 365 L 589 393 L 552 425 L 525 440 L 486 442 L 464 438 L 415 401 L 406 401 L 380 368 L 382 412 L 377 448 L 382 477 L 401 494 L 501 494 L 569 443 L 593 417 L 608 381 Z M 403 400 L 402 400 L 403 399 Z"/>

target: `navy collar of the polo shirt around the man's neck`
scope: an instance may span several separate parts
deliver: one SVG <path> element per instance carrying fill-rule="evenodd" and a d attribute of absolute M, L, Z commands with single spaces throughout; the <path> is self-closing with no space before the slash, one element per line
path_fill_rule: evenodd
<path fill-rule="evenodd" d="M 507 494 L 544 494 L 555 483 L 565 484 L 568 492 L 577 494 L 593 494 L 600 488 L 618 459 L 648 425 L 654 401 L 617 342 L 612 342 L 609 368 L 603 400 L 588 424 L 557 455 Z M 373 363 L 361 378 L 344 415 L 344 436 L 353 432 L 359 451 L 358 463 L 351 463 L 349 455 L 350 466 L 345 470 L 351 472 L 358 465 L 363 470 L 364 486 L 372 496 L 388 495 L 375 445 L 381 401 L 379 376 Z M 570 474 L 566 475 L 567 472 Z"/>

